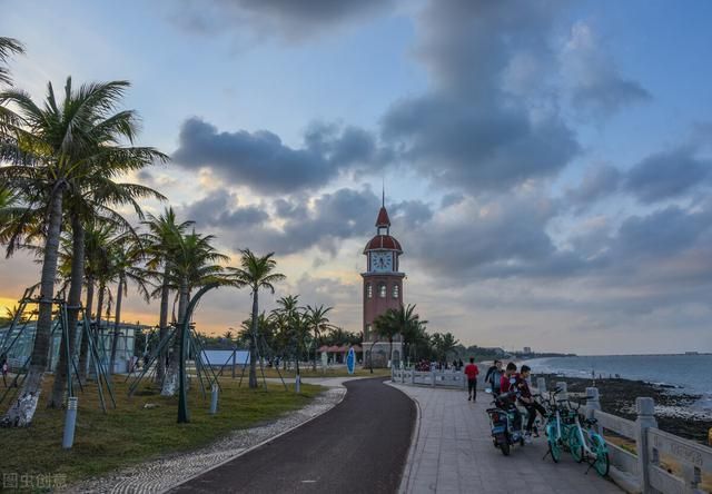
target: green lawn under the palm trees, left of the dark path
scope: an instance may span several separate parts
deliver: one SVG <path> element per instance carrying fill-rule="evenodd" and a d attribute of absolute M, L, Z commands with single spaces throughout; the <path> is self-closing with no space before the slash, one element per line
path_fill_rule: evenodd
<path fill-rule="evenodd" d="M 99 407 L 96 385 L 78 393 L 79 412 L 75 445 L 61 448 L 65 412 L 42 406 L 51 389 L 46 379 L 34 421 L 28 428 L 0 429 L 2 445 L 1 474 L 61 475 L 75 482 L 115 468 L 138 464 L 161 455 L 207 445 L 229 431 L 246 428 L 300 408 L 323 391 L 304 385 L 300 394 L 285 392 L 270 384 L 249 389 L 238 388 L 237 381 L 222 379 L 217 415 L 210 415 L 208 392 L 202 399 L 194 379 L 189 392 L 190 423 L 177 424 L 178 398 L 166 398 L 148 382 L 129 398 L 128 386 L 117 379 L 117 408 L 105 415 Z M 146 408 L 146 404 L 155 406 Z"/>

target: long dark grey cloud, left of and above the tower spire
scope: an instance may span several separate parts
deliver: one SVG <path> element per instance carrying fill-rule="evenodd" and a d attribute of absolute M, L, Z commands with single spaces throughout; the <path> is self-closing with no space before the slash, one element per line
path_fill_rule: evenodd
<path fill-rule="evenodd" d="M 294 194 L 322 187 L 340 172 L 373 167 L 379 154 L 373 136 L 356 127 L 315 125 L 305 147 L 294 149 L 267 130 L 221 132 L 189 118 L 180 128 L 172 158 L 187 169 L 209 168 L 235 186 Z"/>

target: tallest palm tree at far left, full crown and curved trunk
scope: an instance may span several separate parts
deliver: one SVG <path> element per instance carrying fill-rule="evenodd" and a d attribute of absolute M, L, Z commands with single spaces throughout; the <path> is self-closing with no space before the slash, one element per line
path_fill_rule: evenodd
<path fill-rule="evenodd" d="M 83 85 L 75 90 L 71 78 L 68 78 L 63 101 L 58 103 L 49 83 L 42 107 L 23 91 L 0 93 L 0 105 L 4 106 L 0 158 L 12 162 L 0 168 L 0 180 L 21 194 L 28 207 L 43 209 L 46 217 L 40 285 L 43 302 L 40 303 L 28 377 L 20 392 L 20 396 L 30 399 L 32 406 L 29 414 L 13 406 L 7 417 L 11 423 L 27 425 L 31 422 L 47 367 L 52 323 L 50 300 L 55 296 L 66 194 L 69 192 L 77 202 L 80 202 L 79 198 L 92 201 L 92 195 L 100 190 L 97 207 L 107 202 L 130 202 L 140 213 L 135 197 L 145 195 L 147 189 L 128 186 L 127 189 L 134 194 L 126 197 L 117 190 L 113 179 L 127 171 L 141 169 L 154 160 L 168 159 L 152 148 L 122 145 L 123 141 L 131 144 L 137 134 L 134 111 L 113 112 L 128 87 L 127 81 L 112 81 Z M 10 110 L 7 105 L 18 110 Z M 119 196 L 123 198 L 115 200 Z M 16 231 L 24 227 L 19 223 Z M 83 266 L 83 263 L 78 265 Z"/>

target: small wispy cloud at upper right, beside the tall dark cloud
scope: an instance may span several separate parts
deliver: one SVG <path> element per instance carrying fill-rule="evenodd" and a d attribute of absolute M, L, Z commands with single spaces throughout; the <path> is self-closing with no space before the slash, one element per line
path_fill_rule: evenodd
<path fill-rule="evenodd" d="M 561 70 L 571 102 L 584 115 L 605 117 L 651 99 L 639 82 L 624 78 L 597 45 L 591 27 L 576 22 L 561 55 Z"/>

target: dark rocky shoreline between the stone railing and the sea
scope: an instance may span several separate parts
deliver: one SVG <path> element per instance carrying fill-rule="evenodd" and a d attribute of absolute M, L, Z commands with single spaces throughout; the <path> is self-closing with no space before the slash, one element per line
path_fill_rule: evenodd
<path fill-rule="evenodd" d="M 550 388 L 556 382 L 565 382 L 572 393 L 585 393 L 585 388 L 592 386 L 590 378 L 537 374 L 532 377 L 533 383 L 536 383 L 536 377 L 546 378 Z M 701 398 L 700 395 L 679 393 L 672 386 L 622 378 L 596 379 L 595 385 L 599 388 L 601 408 L 604 412 L 634 421 L 635 398 L 651 397 L 655 401 L 655 418 L 662 431 L 708 444 L 712 416 L 692 408 L 692 405 Z"/>

